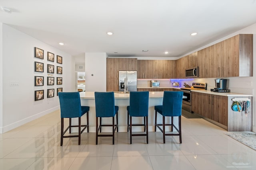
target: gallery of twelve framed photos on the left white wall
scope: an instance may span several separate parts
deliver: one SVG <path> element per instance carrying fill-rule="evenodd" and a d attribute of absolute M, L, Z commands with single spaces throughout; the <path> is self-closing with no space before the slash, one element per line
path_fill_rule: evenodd
<path fill-rule="evenodd" d="M 34 91 L 35 101 L 44 98 L 53 98 L 62 92 L 62 57 L 47 51 L 47 59 L 44 58 L 44 49 L 34 47 L 34 86 L 38 86 Z M 46 66 L 46 70 L 44 67 Z M 45 72 L 47 74 L 45 74 Z M 47 75 L 47 76 L 45 76 Z M 44 81 L 47 81 L 44 83 Z M 47 86 L 47 91 L 44 90 Z M 46 94 L 45 94 L 46 93 Z"/>

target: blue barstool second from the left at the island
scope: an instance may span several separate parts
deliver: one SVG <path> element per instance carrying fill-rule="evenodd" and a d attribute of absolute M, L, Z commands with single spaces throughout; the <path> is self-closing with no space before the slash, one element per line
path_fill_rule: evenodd
<path fill-rule="evenodd" d="M 118 106 L 115 106 L 114 92 L 94 92 L 95 96 L 95 109 L 96 109 L 96 145 L 98 145 L 98 137 L 114 137 L 115 131 L 118 132 Z M 116 115 L 116 125 L 115 117 Z M 98 127 L 98 117 L 100 117 L 100 126 Z M 102 117 L 113 117 L 112 125 L 102 125 Z M 112 135 L 99 135 L 102 126 L 112 126 Z"/>

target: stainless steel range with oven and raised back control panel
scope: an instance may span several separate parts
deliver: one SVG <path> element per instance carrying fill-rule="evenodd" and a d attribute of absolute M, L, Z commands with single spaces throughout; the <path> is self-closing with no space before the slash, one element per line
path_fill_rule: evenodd
<path fill-rule="evenodd" d="M 207 83 L 192 83 L 193 88 L 180 88 L 180 91 L 183 92 L 182 98 L 182 109 L 192 113 L 191 111 L 191 90 L 206 90 Z"/>

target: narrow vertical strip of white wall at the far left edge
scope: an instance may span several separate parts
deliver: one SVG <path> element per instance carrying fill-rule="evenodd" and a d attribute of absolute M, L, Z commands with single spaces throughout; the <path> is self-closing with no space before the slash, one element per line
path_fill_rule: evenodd
<path fill-rule="evenodd" d="M 0 23 L 0 133 L 2 132 L 3 126 L 3 33 L 2 33 L 3 24 Z"/>

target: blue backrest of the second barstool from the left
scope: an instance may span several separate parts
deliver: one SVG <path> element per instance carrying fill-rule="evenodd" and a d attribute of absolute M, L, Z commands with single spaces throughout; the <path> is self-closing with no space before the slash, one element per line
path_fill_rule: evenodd
<path fill-rule="evenodd" d="M 96 117 L 115 116 L 114 92 L 94 92 Z"/>

